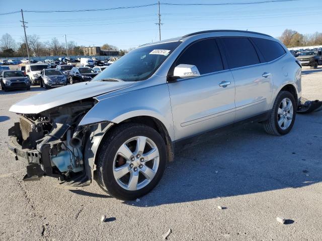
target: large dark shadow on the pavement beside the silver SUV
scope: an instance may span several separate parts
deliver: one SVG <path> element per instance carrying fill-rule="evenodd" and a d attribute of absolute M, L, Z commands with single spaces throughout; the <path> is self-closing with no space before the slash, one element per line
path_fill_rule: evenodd
<path fill-rule="evenodd" d="M 267 135 L 260 124 L 247 125 L 181 150 L 156 188 L 139 202 L 123 203 L 149 207 L 319 183 L 321 117 L 322 111 L 297 115 L 286 136 Z"/>

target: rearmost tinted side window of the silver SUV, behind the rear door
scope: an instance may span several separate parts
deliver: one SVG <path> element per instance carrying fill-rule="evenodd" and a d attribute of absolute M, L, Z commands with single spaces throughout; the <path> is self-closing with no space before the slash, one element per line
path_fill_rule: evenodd
<path fill-rule="evenodd" d="M 285 54 L 285 50 L 278 42 L 261 38 L 252 38 L 252 40 L 259 48 L 267 62 L 277 59 Z"/>

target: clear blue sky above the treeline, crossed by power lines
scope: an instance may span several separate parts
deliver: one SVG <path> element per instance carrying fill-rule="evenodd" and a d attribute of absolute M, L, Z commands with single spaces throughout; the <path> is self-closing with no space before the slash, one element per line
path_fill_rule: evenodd
<path fill-rule="evenodd" d="M 240 3 L 259 0 L 165 0 L 164 3 Z M 23 10 L 81 10 L 115 8 L 157 3 L 157 1 L 7 1 L 1 0 L 0 13 Z M 278 37 L 290 28 L 302 34 L 322 32 L 321 0 L 233 6 L 161 5 L 162 39 L 207 29 L 237 29 L 262 32 Z M 41 41 L 56 37 L 79 45 L 104 43 L 121 49 L 158 41 L 157 6 L 104 12 L 25 13 L 27 34 L 37 34 Z M 21 14 L 0 16 L 1 33 L 9 33 L 19 42 L 24 35 Z"/>

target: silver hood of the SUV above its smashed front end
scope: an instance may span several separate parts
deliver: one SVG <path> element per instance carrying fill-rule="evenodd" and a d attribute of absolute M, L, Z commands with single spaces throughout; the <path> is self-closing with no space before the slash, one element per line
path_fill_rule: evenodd
<path fill-rule="evenodd" d="M 9 109 L 21 114 L 37 114 L 53 107 L 129 87 L 133 82 L 90 81 L 47 90 L 24 99 Z"/>

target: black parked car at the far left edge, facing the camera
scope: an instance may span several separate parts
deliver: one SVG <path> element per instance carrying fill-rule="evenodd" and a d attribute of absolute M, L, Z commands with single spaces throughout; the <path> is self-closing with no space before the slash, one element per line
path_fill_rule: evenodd
<path fill-rule="evenodd" d="M 30 81 L 19 70 L 4 70 L 0 75 L 1 89 L 8 91 L 10 89 L 30 89 Z"/>

